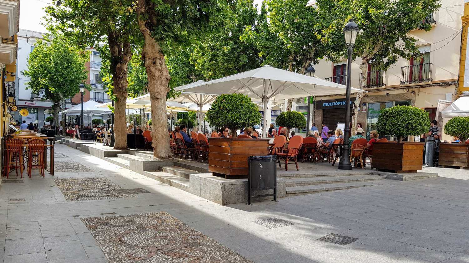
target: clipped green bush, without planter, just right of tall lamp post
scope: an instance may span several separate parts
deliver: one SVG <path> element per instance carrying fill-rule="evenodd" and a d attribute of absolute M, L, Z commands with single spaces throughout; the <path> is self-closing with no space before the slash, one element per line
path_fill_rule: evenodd
<path fill-rule="evenodd" d="M 413 106 L 394 106 L 381 110 L 376 130 L 382 135 L 402 137 L 420 135 L 430 130 L 428 112 Z"/>

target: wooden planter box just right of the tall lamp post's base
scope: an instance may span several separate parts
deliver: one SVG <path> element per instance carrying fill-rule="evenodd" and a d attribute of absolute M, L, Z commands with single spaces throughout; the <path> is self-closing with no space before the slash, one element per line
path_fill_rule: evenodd
<path fill-rule="evenodd" d="M 416 173 L 424 162 L 423 142 L 375 142 L 371 164 L 376 170 Z"/>

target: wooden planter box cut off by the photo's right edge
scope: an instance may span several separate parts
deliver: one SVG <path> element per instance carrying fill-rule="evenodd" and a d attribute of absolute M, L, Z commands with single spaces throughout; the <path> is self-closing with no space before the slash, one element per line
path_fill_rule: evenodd
<path fill-rule="evenodd" d="M 440 143 L 438 164 L 443 166 L 459 166 L 469 168 L 469 144 Z"/>

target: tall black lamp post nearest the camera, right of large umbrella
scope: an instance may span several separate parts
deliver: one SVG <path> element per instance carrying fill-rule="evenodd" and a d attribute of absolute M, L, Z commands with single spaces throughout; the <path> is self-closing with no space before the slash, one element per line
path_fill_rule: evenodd
<path fill-rule="evenodd" d="M 344 28 L 345 44 L 347 44 L 347 95 L 345 101 L 345 129 L 344 129 L 344 146 L 342 147 L 342 157 L 339 162 L 340 170 L 351 170 L 350 164 L 350 148 L 348 146 L 348 139 L 350 138 L 350 80 L 351 80 L 351 67 L 352 67 L 352 52 L 355 46 L 356 36 L 358 35 L 358 25 L 350 19 Z"/>

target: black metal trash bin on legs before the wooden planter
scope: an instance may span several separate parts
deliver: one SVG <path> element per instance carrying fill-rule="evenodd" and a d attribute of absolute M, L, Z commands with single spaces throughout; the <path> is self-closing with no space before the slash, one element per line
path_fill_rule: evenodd
<path fill-rule="evenodd" d="M 251 205 L 251 197 L 273 196 L 277 201 L 277 155 L 250 156 L 248 158 L 248 204 Z M 254 190 L 270 190 L 272 194 L 253 196 Z"/>

